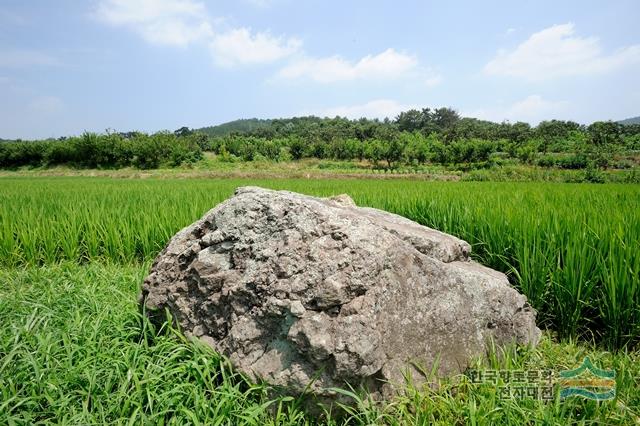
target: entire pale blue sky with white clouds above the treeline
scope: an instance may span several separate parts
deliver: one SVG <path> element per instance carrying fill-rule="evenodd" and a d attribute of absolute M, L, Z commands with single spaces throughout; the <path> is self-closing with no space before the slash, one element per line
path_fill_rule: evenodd
<path fill-rule="evenodd" d="M 640 2 L 0 0 L 0 137 L 640 115 Z"/>

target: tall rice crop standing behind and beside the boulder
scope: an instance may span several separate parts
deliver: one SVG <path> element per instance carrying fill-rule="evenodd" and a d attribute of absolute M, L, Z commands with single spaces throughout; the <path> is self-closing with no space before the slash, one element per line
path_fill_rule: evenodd
<path fill-rule="evenodd" d="M 0 180 L 0 264 L 146 261 L 241 185 L 332 195 L 457 235 L 560 337 L 640 339 L 640 186 L 372 180 Z"/>

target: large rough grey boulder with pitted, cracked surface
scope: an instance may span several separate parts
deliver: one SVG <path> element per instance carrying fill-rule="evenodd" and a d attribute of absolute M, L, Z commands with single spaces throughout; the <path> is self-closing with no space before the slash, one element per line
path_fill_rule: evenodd
<path fill-rule="evenodd" d="M 284 393 L 384 398 L 436 360 L 440 375 L 463 371 L 489 340 L 538 342 L 526 298 L 469 252 L 345 195 L 243 187 L 172 238 L 141 303 Z"/>

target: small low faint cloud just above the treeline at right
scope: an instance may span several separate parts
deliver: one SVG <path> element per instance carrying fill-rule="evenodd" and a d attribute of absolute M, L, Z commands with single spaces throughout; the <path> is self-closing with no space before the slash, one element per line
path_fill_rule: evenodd
<path fill-rule="evenodd" d="M 567 101 L 548 101 L 540 95 L 530 95 L 511 105 L 467 111 L 461 115 L 495 122 L 508 120 L 537 124 L 542 120 L 566 118 L 568 109 Z"/>

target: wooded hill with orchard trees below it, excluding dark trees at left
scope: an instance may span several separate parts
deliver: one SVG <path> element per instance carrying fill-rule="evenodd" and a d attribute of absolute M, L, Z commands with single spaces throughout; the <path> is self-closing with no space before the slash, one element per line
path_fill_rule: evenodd
<path fill-rule="evenodd" d="M 213 137 L 210 149 L 223 161 L 368 160 L 393 168 L 425 163 L 488 166 L 516 159 L 566 169 L 630 166 L 614 164 L 614 154 L 640 150 L 640 125 L 551 120 L 532 127 L 462 118 L 450 108 L 410 110 L 393 121 L 299 117 L 260 124 L 252 131 Z"/>

